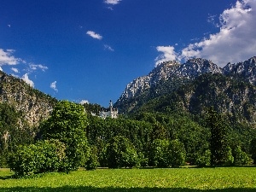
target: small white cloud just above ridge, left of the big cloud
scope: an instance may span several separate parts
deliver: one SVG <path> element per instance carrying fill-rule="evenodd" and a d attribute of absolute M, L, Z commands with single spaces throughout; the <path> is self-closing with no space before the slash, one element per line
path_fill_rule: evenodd
<path fill-rule="evenodd" d="M 160 64 L 163 61 L 172 61 L 177 60 L 177 53 L 174 51 L 174 47 L 172 46 L 158 46 L 156 49 L 163 54 L 159 55 L 155 58 L 155 66 Z"/>

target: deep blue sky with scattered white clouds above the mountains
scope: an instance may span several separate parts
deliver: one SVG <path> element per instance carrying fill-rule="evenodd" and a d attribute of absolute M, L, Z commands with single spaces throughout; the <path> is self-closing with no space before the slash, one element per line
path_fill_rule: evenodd
<path fill-rule="evenodd" d="M 1 0 L 0 70 L 71 102 L 116 102 L 162 61 L 256 55 L 256 0 Z"/>

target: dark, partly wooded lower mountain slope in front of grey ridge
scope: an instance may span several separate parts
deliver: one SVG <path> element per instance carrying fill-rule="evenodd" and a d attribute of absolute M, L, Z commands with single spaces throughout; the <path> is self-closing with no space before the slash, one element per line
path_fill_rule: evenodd
<path fill-rule="evenodd" d="M 143 104 L 140 112 L 179 110 L 201 115 L 213 106 L 219 113 L 240 122 L 256 123 L 256 88 L 247 82 L 223 74 L 203 74 L 170 94 Z"/>

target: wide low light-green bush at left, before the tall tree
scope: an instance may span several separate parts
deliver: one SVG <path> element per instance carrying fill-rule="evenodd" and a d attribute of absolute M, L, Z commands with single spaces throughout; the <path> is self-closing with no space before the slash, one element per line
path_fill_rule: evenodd
<path fill-rule="evenodd" d="M 9 155 L 9 167 L 15 177 L 30 176 L 40 172 L 57 172 L 65 166 L 65 145 L 58 140 L 44 140 L 23 145 Z"/>

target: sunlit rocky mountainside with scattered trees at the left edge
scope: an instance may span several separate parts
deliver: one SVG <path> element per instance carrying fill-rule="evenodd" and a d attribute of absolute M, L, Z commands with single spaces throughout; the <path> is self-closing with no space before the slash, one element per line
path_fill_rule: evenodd
<path fill-rule="evenodd" d="M 36 126 L 49 116 L 57 100 L 33 89 L 22 79 L 0 71 L 0 103 L 8 103 L 22 114 L 28 125 Z"/>

